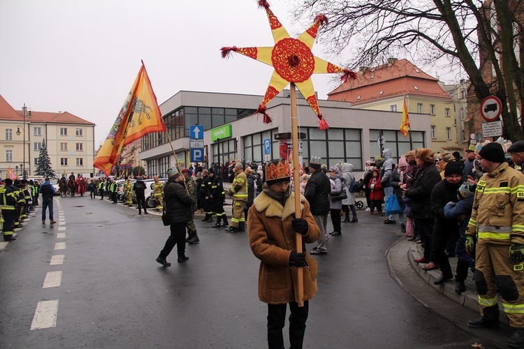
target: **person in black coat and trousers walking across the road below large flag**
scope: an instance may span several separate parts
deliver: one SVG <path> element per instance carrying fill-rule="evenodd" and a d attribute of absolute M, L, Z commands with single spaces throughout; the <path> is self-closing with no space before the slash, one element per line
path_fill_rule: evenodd
<path fill-rule="evenodd" d="M 157 262 L 164 267 L 171 265 L 166 258 L 175 245 L 178 254 L 177 262 L 189 260 L 186 256 L 186 223 L 191 221 L 191 205 L 195 205 L 196 200 L 187 193 L 183 182 L 184 176 L 180 176 L 179 172 L 168 170 L 168 181 L 163 187 L 163 206 L 166 209 L 171 234 L 157 257 Z"/>

